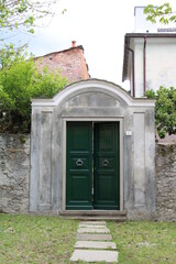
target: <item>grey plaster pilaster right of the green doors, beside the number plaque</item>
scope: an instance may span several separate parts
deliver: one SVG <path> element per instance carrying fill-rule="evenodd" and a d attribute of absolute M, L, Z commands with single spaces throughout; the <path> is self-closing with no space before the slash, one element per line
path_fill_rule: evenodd
<path fill-rule="evenodd" d="M 124 129 L 124 205 L 127 211 L 155 211 L 155 139 L 154 112 L 135 109 L 127 117 Z"/>

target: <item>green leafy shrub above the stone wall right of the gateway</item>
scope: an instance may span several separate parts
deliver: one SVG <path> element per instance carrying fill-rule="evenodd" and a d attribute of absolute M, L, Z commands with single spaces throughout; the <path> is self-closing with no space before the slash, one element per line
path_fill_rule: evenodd
<path fill-rule="evenodd" d="M 176 89 L 161 86 L 156 94 L 148 90 L 145 96 L 156 99 L 155 122 L 160 138 L 164 139 L 166 133 L 176 134 Z"/>

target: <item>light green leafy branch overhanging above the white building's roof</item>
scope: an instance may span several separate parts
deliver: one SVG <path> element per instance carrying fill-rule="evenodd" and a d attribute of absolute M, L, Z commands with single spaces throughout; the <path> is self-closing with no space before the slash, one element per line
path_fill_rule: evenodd
<path fill-rule="evenodd" d="M 144 14 L 146 14 L 146 20 L 152 23 L 156 23 L 156 20 L 163 24 L 168 24 L 169 22 L 176 22 L 176 15 L 173 14 L 172 7 L 168 2 L 154 7 L 153 4 L 148 4 L 144 9 Z"/>

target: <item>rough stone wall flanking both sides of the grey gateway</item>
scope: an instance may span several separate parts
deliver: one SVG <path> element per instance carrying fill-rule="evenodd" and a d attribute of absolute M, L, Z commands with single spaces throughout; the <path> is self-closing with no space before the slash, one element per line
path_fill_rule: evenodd
<path fill-rule="evenodd" d="M 0 134 L 0 212 L 29 212 L 30 135 Z M 176 144 L 156 145 L 156 211 L 133 220 L 176 221 Z"/>

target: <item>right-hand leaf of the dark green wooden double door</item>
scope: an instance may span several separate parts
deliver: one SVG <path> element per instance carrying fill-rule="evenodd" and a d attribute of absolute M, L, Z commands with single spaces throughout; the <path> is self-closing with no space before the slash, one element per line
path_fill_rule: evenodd
<path fill-rule="evenodd" d="M 119 210 L 119 123 L 95 123 L 94 208 Z"/>

